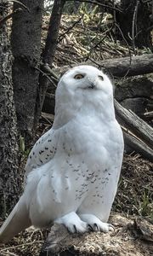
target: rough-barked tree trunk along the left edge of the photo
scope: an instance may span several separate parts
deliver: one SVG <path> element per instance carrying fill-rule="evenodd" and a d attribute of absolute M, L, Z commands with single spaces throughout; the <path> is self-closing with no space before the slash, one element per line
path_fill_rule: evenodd
<path fill-rule="evenodd" d="M 7 15 L 8 3 L 0 4 L 1 18 Z M 0 27 L 0 215 L 15 204 L 20 193 L 18 173 L 17 127 L 11 77 L 12 55 L 7 25 Z"/>

